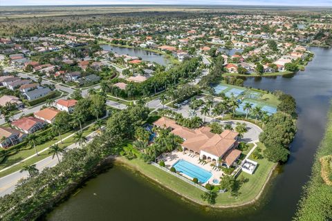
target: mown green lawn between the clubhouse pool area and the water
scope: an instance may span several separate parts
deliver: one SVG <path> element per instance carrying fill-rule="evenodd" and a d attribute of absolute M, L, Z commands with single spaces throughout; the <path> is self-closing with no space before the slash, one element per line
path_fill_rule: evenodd
<path fill-rule="evenodd" d="M 187 184 L 183 180 L 180 180 L 169 173 L 166 173 L 165 171 L 158 169 L 156 166 L 152 166 L 138 159 L 127 160 L 124 157 L 120 157 L 119 161 L 124 162 L 124 164 L 128 164 L 134 169 L 140 171 L 140 173 L 162 184 L 163 186 L 167 187 L 167 189 L 171 189 L 179 195 L 183 195 L 185 198 L 188 198 L 199 204 L 207 204 L 201 200 L 201 194 L 203 191 L 190 184 Z M 239 204 L 249 202 L 250 200 L 254 200 L 257 197 L 262 187 L 264 186 L 270 171 L 275 166 L 275 163 L 268 162 L 268 160 L 265 159 L 255 161 L 259 163 L 259 166 L 253 175 L 249 175 L 243 172 L 240 174 L 248 178 L 249 181 L 241 186 L 241 189 L 239 190 L 239 196 L 235 198 L 228 192 L 219 193 L 216 198 L 216 204 L 214 204 L 214 206 L 239 206 Z"/>

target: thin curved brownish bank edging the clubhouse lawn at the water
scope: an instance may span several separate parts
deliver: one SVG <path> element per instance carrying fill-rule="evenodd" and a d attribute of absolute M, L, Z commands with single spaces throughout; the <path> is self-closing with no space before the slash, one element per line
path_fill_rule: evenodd
<path fill-rule="evenodd" d="M 139 168 L 139 166 L 135 166 L 133 164 L 130 164 L 129 161 L 124 159 L 123 157 L 116 157 L 115 162 L 120 164 L 121 166 L 125 166 L 129 169 L 132 169 L 132 170 L 140 173 L 140 175 L 142 175 L 143 177 L 146 177 L 149 180 L 149 182 L 154 182 L 155 184 L 158 184 L 159 188 L 165 188 L 169 191 L 172 191 L 172 193 L 175 193 L 176 195 L 178 195 L 178 197 L 185 198 L 185 200 L 190 201 L 190 202 L 192 202 L 194 204 L 197 204 L 199 206 L 208 206 L 208 207 L 211 207 L 211 208 L 214 208 L 214 209 L 234 209 L 234 208 L 239 209 L 241 207 L 248 206 L 250 204 L 256 203 L 261 198 L 261 195 L 264 193 L 264 191 L 266 191 L 266 186 L 271 181 L 271 177 L 272 177 L 273 173 L 275 172 L 275 169 L 277 168 L 277 165 L 278 165 L 276 163 L 273 166 L 273 168 L 270 170 L 270 172 L 268 173 L 268 177 L 266 177 L 266 180 L 265 180 L 263 186 L 261 186 L 261 189 L 259 190 L 259 193 L 257 193 L 257 195 L 255 195 L 255 198 L 252 198 L 252 200 L 248 200 L 247 202 L 241 202 L 241 203 L 238 203 L 238 204 L 214 205 L 214 204 L 208 204 L 208 203 L 205 203 L 205 202 L 202 203 L 198 200 L 195 200 L 195 199 L 191 198 L 189 195 L 179 193 L 179 191 L 172 188 L 171 186 L 168 186 L 167 184 L 164 184 L 163 182 L 160 182 L 159 180 L 156 180 L 151 175 L 148 175 L 147 173 L 145 173 L 144 170 Z M 218 194 L 223 194 L 223 193 L 218 193 Z"/>

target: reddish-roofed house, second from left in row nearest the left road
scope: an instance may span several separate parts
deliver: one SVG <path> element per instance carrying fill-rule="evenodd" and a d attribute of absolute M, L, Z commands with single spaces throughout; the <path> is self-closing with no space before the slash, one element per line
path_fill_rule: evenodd
<path fill-rule="evenodd" d="M 17 119 L 14 122 L 12 122 L 12 126 L 17 128 L 19 131 L 22 131 L 24 133 L 35 133 L 35 131 L 38 131 L 44 126 L 46 123 L 42 119 L 37 119 L 35 117 L 22 117 L 21 119 Z"/>

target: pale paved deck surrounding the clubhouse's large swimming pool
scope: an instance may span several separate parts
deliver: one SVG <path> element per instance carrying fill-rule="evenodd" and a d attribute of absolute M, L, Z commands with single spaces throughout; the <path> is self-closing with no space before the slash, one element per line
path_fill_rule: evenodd
<path fill-rule="evenodd" d="M 205 165 L 199 164 L 199 155 L 196 155 L 195 157 L 190 157 L 189 155 L 190 155 L 190 153 L 183 153 L 181 151 L 172 151 L 172 153 L 163 153 L 162 155 L 160 155 L 160 160 L 163 160 L 165 162 L 165 167 L 167 169 L 170 169 L 178 160 L 185 160 L 187 162 L 191 162 L 192 164 L 205 169 L 206 171 L 211 172 L 212 176 L 210 177 L 210 179 L 207 182 L 203 183 L 203 185 L 208 184 L 208 183 L 213 184 L 212 181 L 214 179 L 217 179 L 220 181 L 220 177 L 222 177 L 224 175 L 223 171 L 212 170 L 212 166 L 210 166 L 210 164 L 211 164 L 210 162 L 208 162 L 208 164 L 205 164 Z M 192 177 L 189 177 L 183 173 L 181 173 L 181 175 L 192 180 Z"/>

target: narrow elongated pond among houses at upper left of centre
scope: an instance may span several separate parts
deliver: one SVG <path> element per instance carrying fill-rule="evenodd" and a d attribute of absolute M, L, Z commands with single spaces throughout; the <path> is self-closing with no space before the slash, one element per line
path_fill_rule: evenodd
<path fill-rule="evenodd" d="M 147 50 L 143 50 L 140 48 L 122 48 L 111 45 L 102 45 L 101 47 L 103 50 L 115 52 L 118 55 L 129 55 L 129 56 L 140 57 L 144 61 L 156 62 L 157 64 L 163 66 L 166 66 L 167 64 L 170 63 L 169 59 L 167 59 L 165 56 L 159 55 L 155 52 L 149 52 Z"/>

